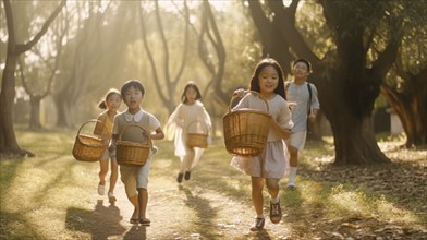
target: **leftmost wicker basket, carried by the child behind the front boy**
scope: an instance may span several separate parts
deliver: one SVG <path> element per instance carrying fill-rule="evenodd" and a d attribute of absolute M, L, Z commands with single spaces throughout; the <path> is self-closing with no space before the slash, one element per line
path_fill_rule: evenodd
<path fill-rule="evenodd" d="M 76 160 L 98 161 L 107 149 L 108 141 L 95 135 L 81 134 L 83 127 L 91 122 L 102 123 L 99 120 L 93 119 L 81 125 L 73 146 L 73 156 Z"/>

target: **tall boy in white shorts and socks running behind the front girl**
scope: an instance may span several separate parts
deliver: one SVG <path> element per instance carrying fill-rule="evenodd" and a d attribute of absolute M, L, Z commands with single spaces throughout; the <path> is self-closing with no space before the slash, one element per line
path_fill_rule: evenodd
<path fill-rule="evenodd" d="M 305 59 L 297 59 L 292 64 L 294 80 L 286 86 L 288 100 L 294 103 L 292 109 L 292 121 L 295 125 L 291 129 L 292 134 L 286 141 L 290 153 L 290 172 L 288 188 L 295 189 L 295 177 L 298 167 L 298 152 L 304 149 L 307 137 L 307 120 L 314 122 L 320 108 L 317 98 L 317 88 L 314 84 L 306 82 L 312 72 L 310 63 Z"/>

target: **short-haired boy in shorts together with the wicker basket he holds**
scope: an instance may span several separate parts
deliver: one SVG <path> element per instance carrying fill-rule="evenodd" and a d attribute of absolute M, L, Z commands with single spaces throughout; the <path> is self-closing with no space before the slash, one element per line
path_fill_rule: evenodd
<path fill-rule="evenodd" d="M 151 140 L 161 140 L 164 137 L 164 133 L 159 120 L 141 108 L 145 88 L 139 81 L 130 80 L 124 83 L 121 95 L 127 110 L 114 118 L 110 148 L 117 154 L 121 180 L 127 199 L 134 206 L 131 224 L 149 226 L 150 220 L 146 216 L 148 173 L 152 154 L 157 151 L 152 146 Z M 145 144 L 146 142 L 148 144 Z"/>

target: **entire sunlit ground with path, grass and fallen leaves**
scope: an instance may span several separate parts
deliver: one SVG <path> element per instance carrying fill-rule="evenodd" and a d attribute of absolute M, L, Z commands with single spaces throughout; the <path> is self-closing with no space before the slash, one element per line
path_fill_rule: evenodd
<path fill-rule="evenodd" d="M 334 167 L 332 145 L 308 143 L 297 190 L 281 183 L 282 221 L 268 220 L 265 191 L 265 230 L 251 232 L 251 181 L 220 139 L 181 184 L 172 143 L 157 143 L 144 227 L 129 223 L 120 180 L 115 204 L 97 195 L 99 167 L 72 158 L 70 134 L 20 134 L 37 157 L 0 161 L 0 239 L 427 239 L 425 149 L 385 142 L 391 164 Z"/>

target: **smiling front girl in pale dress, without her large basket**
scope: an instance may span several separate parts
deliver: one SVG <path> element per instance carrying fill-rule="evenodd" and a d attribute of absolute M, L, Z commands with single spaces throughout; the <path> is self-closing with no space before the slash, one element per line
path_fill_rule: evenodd
<path fill-rule="evenodd" d="M 270 194 L 270 220 L 278 224 L 282 218 L 279 202 L 279 181 L 284 177 L 286 166 L 286 145 L 282 139 L 288 139 L 293 125 L 291 112 L 284 100 L 284 81 L 280 64 L 271 59 L 263 59 L 256 67 L 251 80 L 251 91 L 260 93 L 268 101 L 269 113 L 272 117 L 271 127 L 267 137 L 267 144 L 260 156 L 233 157 L 231 165 L 251 176 L 252 201 L 257 217 L 252 231 L 264 228 L 265 218 L 263 214 L 264 196 L 263 189 L 267 185 Z M 242 96 L 243 89 L 234 94 Z M 252 108 L 266 111 L 265 101 L 255 94 L 247 94 L 233 108 Z"/>

